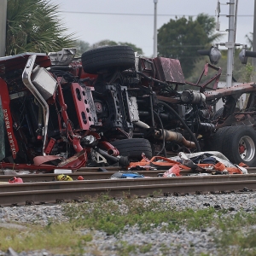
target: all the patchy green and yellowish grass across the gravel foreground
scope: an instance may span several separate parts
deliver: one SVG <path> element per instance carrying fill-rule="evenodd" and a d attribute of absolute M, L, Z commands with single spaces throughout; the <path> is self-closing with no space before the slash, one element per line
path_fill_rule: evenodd
<path fill-rule="evenodd" d="M 146 201 L 137 198 L 112 200 L 108 195 L 97 199 L 87 198 L 83 203 L 63 205 L 63 211 L 69 221 L 62 224 L 50 222 L 47 226 L 27 225 L 24 230 L 0 228 L 0 248 L 6 251 L 8 247 L 17 253 L 29 250 L 46 249 L 51 253 L 65 255 L 82 255 L 85 247 L 94 255 L 101 255 L 96 244 L 91 243 L 93 233 L 90 230 L 102 230 L 108 235 L 117 236 L 128 227 L 137 225 L 142 232 L 155 227 L 162 231 L 202 230 L 215 227 L 212 234 L 219 255 L 256 255 L 256 215 L 255 212 L 229 212 L 225 209 L 206 209 L 194 211 L 185 209 L 177 211 L 172 207 L 172 200 L 148 198 Z M 253 227 L 255 226 L 255 230 Z M 85 229 L 86 232 L 81 230 Z M 113 245 L 118 255 L 136 255 L 148 253 L 153 244 L 130 244 L 119 241 Z M 188 245 L 188 255 L 195 255 L 193 245 Z M 177 253 L 181 244 L 162 243 L 160 252 L 170 255 L 171 247 L 176 247 Z M 89 252 L 88 252 L 89 253 Z M 206 256 L 207 254 L 200 254 Z"/>

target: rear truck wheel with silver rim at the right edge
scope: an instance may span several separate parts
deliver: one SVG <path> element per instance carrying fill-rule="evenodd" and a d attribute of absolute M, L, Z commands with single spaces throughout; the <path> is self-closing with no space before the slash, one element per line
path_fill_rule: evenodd
<path fill-rule="evenodd" d="M 234 164 L 256 166 L 256 131 L 248 126 L 231 126 L 226 132 L 223 154 Z"/>

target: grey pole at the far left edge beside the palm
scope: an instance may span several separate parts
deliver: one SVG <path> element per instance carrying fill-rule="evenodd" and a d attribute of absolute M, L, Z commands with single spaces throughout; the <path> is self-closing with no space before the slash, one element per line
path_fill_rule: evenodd
<path fill-rule="evenodd" d="M 5 55 L 7 0 L 0 1 L 0 57 Z"/>

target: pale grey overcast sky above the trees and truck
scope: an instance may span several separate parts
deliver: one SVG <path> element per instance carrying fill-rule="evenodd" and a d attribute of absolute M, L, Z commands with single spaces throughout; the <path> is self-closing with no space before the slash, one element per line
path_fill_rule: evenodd
<path fill-rule="evenodd" d="M 68 32 L 89 44 L 109 39 L 136 44 L 146 56 L 153 55 L 154 1 L 153 0 L 51 0 L 60 4 L 61 18 Z M 229 6 L 220 0 L 220 30 L 228 41 Z M 235 1 L 236 2 L 236 1 Z M 215 16 L 217 0 L 158 0 L 157 28 L 170 19 L 204 13 Z M 238 1 L 236 43 L 247 44 L 246 34 L 253 32 L 253 0 Z M 77 12 L 77 13 L 76 13 Z M 80 13 L 79 13 L 80 12 Z"/>

